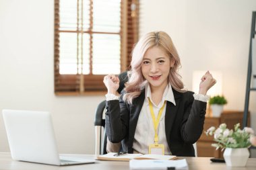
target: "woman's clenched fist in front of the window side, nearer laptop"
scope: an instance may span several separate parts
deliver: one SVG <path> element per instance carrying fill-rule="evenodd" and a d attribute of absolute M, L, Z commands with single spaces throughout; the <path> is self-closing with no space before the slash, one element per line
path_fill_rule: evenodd
<path fill-rule="evenodd" d="M 103 83 L 108 89 L 108 93 L 117 94 L 117 89 L 119 88 L 119 78 L 115 75 L 106 75 L 103 79 Z"/>

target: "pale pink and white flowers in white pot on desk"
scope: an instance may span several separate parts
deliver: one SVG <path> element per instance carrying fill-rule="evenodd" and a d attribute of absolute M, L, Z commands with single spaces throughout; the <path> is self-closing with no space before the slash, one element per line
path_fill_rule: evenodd
<path fill-rule="evenodd" d="M 220 124 L 216 129 L 214 126 L 209 128 L 205 134 L 214 135 L 217 143 L 212 146 L 225 149 L 223 157 L 226 165 L 231 167 L 245 167 L 249 158 L 249 146 L 256 146 L 256 136 L 252 128 L 245 127 L 243 130 L 240 124 L 234 125 L 234 130 L 226 128 L 226 124 Z"/>

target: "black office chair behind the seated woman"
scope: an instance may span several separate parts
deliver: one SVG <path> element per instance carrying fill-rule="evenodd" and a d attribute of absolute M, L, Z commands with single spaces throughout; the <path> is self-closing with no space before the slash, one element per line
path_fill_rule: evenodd
<path fill-rule="evenodd" d="M 120 94 L 125 83 L 128 81 L 127 71 L 119 75 L 119 89 L 117 92 Z M 95 154 L 103 155 L 106 154 L 106 132 L 105 132 L 105 107 L 106 100 L 100 102 L 95 112 L 94 126 L 95 126 Z"/>

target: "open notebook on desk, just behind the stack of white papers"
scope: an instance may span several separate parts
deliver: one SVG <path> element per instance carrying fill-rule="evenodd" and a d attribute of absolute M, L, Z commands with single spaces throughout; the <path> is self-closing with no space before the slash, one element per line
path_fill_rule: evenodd
<path fill-rule="evenodd" d="M 123 154 L 119 156 L 114 156 L 117 153 L 108 153 L 105 155 L 98 155 L 98 160 L 106 160 L 106 161 L 130 161 L 131 159 L 160 159 L 160 160 L 171 160 L 176 159 L 177 157 L 174 155 L 155 155 L 155 154 Z"/>

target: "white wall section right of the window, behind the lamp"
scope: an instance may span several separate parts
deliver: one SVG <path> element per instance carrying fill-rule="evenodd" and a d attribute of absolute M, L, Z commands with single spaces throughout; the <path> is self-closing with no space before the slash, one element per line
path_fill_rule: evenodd
<path fill-rule="evenodd" d="M 255 0 L 140 0 L 140 34 L 167 32 L 181 56 L 181 75 L 192 89 L 193 71 L 222 71 L 225 110 L 245 107 L 252 11 Z M 256 130 L 256 93 L 251 92 L 251 126 Z M 254 151 L 253 151 L 254 152 Z M 256 153 L 253 153 L 256 157 Z"/>

